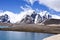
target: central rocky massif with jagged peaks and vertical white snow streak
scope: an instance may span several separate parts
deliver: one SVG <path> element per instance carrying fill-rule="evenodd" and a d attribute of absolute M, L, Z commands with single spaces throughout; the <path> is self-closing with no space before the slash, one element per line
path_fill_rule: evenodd
<path fill-rule="evenodd" d="M 47 11 L 44 11 L 42 13 L 36 13 L 35 11 L 33 11 L 31 13 L 31 15 L 25 15 L 25 18 L 23 18 L 19 23 L 41 23 L 47 19 L 50 19 L 51 15 L 48 14 Z"/>

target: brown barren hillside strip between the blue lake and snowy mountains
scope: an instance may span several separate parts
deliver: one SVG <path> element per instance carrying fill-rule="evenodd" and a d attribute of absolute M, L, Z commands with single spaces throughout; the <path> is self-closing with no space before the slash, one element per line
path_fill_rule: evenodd
<path fill-rule="evenodd" d="M 39 25 L 39 24 L 11 24 L 0 23 L 0 26 L 8 26 L 8 28 L 0 28 L 4 31 L 22 31 L 22 32 L 41 32 L 41 33 L 60 33 L 59 26 L 53 25 Z"/>

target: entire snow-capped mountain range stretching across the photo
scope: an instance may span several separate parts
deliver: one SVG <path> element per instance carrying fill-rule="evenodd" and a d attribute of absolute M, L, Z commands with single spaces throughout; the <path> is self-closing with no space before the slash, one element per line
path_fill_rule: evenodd
<path fill-rule="evenodd" d="M 44 23 L 47 19 L 51 18 L 60 19 L 60 16 L 51 15 L 47 11 L 36 13 L 34 10 L 24 11 L 19 14 L 14 14 L 9 11 L 0 12 L 0 22 L 37 24 Z"/>

